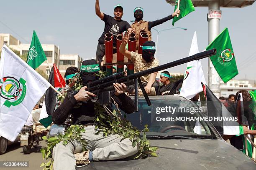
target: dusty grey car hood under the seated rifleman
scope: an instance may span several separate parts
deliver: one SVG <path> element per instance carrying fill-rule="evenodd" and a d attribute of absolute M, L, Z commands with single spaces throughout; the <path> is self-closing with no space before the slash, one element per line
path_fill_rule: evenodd
<path fill-rule="evenodd" d="M 224 140 L 150 140 L 158 157 L 92 161 L 77 170 L 255 170 L 256 163 Z"/>

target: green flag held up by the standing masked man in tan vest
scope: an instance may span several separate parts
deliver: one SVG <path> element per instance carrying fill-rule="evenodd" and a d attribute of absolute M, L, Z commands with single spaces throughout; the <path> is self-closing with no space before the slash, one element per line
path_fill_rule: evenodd
<path fill-rule="evenodd" d="M 174 11 L 177 9 L 177 5 L 178 5 L 178 0 L 175 1 Z M 193 5 L 191 0 L 180 0 L 179 1 L 179 10 L 180 10 L 179 17 L 177 18 L 177 16 L 175 16 L 172 19 L 172 25 L 174 25 L 174 23 L 177 20 L 180 20 L 184 16 L 186 16 L 189 13 L 193 12 L 195 10 L 195 7 L 194 7 L 194 5 Z"/>

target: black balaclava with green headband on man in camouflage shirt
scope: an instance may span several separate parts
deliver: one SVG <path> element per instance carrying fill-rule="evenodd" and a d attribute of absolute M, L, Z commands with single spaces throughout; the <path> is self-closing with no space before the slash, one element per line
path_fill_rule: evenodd
<path fill-rule="evenodd" d="M 156 52 L 156 44 L 154 41 L 146 41 L 142 46 L 142 58 L 146 62 L 151 62 Z"/>

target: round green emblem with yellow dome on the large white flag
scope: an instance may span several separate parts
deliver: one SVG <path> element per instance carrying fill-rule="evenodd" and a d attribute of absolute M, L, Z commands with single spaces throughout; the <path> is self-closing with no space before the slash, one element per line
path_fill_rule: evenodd
<path fill-rule="evenodd" d="M 4 105 L 10 107 L 20 104 L 26 96 L 26 81 L 14 77 L 0 79 L 0 97 L 5 99 Z"/>

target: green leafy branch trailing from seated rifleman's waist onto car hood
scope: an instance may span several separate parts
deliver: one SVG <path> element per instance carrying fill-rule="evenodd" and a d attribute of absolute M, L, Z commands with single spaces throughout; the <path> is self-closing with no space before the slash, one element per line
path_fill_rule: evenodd
<path fill-rule="evenodd" d="M 122 135 L 123 138 L 120 140 L 120 142 L 126 138 L 129 138 L 129 140 L 132 142 L 133 148 L 136 147 L 136 145 L 139 145 L 139 151 L 134 159 L 147 158 L 149 155 L 157 156 L 156 151 L 158 148 L 151 147 L 149 145 L 149 140 L 146 139 L 145 132 L 149 131 L 148 125 L 145 125 L 143 130 L 138 130 L 131 124 L 130 121 L 126 119 L 126 115 L 124 118 L 121 117 L 121 112 L 117 105 L 117 109 L 113 110 L 113 112 L 108 110 L 108 107 L 105 105 L 104 107 L 105 109 L 100 107 L 99 104 L 95 103 L 95 110 L 97 111 L 95 116 L 95 122 L 97 125 L 95 126 L 95 129 L 98 130 L 97 133 L 103 132 L 105 136 L 111 134 Z M 107 115 L 104 114 L 105 111 L 107 112 Z M 142 138 L 141 133 L 143 134 Z"/>

